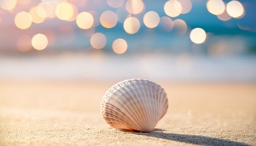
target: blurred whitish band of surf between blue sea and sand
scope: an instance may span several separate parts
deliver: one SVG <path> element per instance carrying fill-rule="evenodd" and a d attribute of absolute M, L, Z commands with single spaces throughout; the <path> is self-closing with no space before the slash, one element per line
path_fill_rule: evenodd
<path fill-rule="evenodd" d="M 162 52 L 59 52 L 0 55 L 1 80 L 112 81 L 147 78 L 172 82 L 256 83 L 256 57 L 209 57 Z"/>

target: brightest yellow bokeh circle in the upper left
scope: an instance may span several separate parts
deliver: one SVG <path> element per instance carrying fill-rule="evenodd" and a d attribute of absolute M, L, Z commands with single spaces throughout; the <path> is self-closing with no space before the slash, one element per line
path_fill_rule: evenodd
<path fill-rule="evenodd" d="M 68 20 L 74 15 L 73 5 L 69 2 L 60 2 L 57 4 L 55 14 L 59 19 Z"/>

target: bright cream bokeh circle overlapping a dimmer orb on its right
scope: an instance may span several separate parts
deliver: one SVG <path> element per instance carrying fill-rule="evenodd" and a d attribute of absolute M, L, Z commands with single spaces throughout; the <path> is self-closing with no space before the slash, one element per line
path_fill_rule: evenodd
<path fill-rule="evenodd" d="M 182 12 L 182 5 L 177 0 L 169 0 L 165 3 L 164 10 L 166 15 L 176 17 Z"/>

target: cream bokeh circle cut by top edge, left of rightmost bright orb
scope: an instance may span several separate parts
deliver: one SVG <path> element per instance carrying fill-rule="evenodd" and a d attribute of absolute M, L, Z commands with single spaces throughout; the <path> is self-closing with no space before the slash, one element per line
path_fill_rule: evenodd
<path fill-rule="evenodd" d="M 206 7 L 208 12 L 213 15 L 220 15 L 225 10 L 225 4 L 222 0 L 208 0 Z"/>

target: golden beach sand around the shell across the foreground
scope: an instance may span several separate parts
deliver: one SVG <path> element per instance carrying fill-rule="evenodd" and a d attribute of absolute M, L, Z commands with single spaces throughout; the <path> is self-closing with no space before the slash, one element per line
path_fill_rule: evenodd
<path fill-rule="evenodd" d="M 256 145 L 256 85 L 157 82 L 169 109 L 152 133 L 101 117 L 116 82 L 1 81 L 0 145 Z"/>

